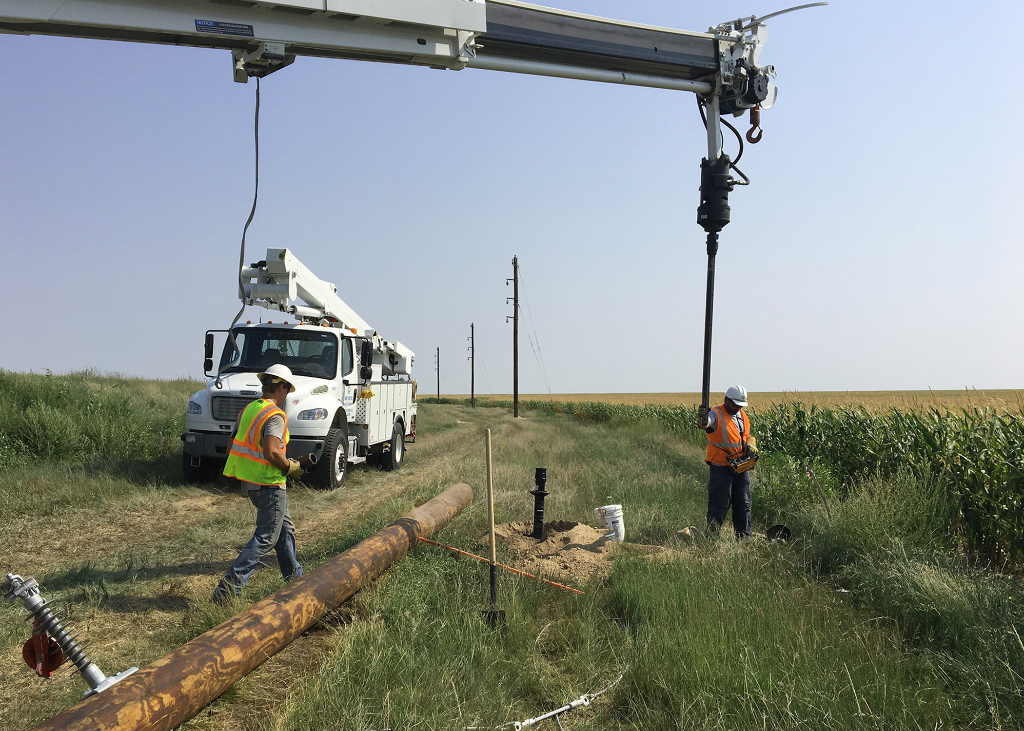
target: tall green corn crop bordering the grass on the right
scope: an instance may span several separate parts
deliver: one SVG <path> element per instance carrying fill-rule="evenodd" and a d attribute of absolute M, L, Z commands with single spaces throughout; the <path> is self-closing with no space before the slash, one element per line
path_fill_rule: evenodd
<path fill-rule="evenodd" d="M 461 399 L 442 399 L 462 402 Z M 481 405 L 511 407 L 510 401 Z M 656 420 L 663 428 L 703 442 L 696 408 L 599 402 L 520 401 L 520 408 L 566 414 L 594 423 Z M 753 415 L 766 457 L 825 467 L 840 484 L 901 468 L 943 479 L 955 506 L 950 526 L 970 553 L 992 561 L 1024 558 L 1024 417 L 992 410 L 925 412 L 805 407 L 782 403 Z"/>

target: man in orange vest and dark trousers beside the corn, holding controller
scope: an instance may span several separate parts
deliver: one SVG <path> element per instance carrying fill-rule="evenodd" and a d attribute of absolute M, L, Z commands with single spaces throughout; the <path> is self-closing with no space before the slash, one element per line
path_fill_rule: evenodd
<path fill-rule="evenodd" d="M 748 456 L 752 441 L 751 419 L 743 411 L 746 389 L 736 384 L 725 392 L 722 405 L 708 412 L 708 530 L 717 531 L 732 507 L 732 529 L 736 538 L 751 534 L 751 473 L 736 472 L 729 464 Z"/>

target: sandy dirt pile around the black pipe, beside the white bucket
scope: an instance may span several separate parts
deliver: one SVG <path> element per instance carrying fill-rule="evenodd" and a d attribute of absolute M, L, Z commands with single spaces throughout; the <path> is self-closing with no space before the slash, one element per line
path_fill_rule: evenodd
<path fill-rule="evenodd" d="M 618 543 L 604 538 L 607 531 L 568 520 L 544 524 L 544 538 L 532 538 L 534 523 L 520 521 L 495 526 L 495 538 L 512 555 L 513 566 L 539 576 L 582 584 L 611 572 L 611 557 L 628 549 L 644 554 L 663 553 L 660 546 Z M 479 539 L 487 545 L 487 534 Z"/>

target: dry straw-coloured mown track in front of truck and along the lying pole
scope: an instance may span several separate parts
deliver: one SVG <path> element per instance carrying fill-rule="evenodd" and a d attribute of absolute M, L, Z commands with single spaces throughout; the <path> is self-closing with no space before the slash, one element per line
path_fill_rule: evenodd
<path fill-rule="evenodd" d="M 386 501 L 425 485 L 457 481 L 452 475 L 460 473 L 459 466 L 479 447 L 478 419 L 453 418 L 445 428 L 421 434 L 410 445 L 399 472 L 360 467 L 340 490 L 290 490 L 300 557 L 303 547 L 308 550 L 357 526 L 362 516 Z M 252 519 L 249 501 L 233 490 L 164 488 L 125 504 L 97 501 L 83 505 L 81 511 L 22 520 L 0 538 L 0 561 L 5 571 L 25 575 L 41 576 L 57 569 L 66 574 L 97 571 L 99 589 L 90 585 L 88 591 L 101 594 L 78 590 L 72 615 L 100 668 L 114 673 L 130 664 L 142 666 L 173 648 L 169 638 L 180 633 L 195 601 L 209 594 L 251 535 Z M 120 578 L 126 572 L 118 565 L 131 563 L 134 557 L 139 557 L 140 570 Z M 163 565 L 146 568 L 154 557 Z M 269 564 L 273 563 L 271 558 Z M 268 575 L 266 570 L 262 573 Z M 104 583 L 104 576 L 113 578 Z M 110 584 L 115 579 L 120 583 Z M 28 627 L 19 621 L 24 612 L 12 606 L 0 609 L 7 635 L 0 651 L 0 728 L 29 728 L 70 707 L 85 686 L 65 666 L 48 681 L 37 678 L 20 658 Z M 272 708 L 274 699 L 287 696 L 290 684 L 283 683 L 282 676 L 296 678 L 314 668 L 331 637 L 328 630 L 314 628 L 237 685 L 213 714 L 189 722 L 188 727 L 254 728 L 269 713 L 259 708 Z"/>

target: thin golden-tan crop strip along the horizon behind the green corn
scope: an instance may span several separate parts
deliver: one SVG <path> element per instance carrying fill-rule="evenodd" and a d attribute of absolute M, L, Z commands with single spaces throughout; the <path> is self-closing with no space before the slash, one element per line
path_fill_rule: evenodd
<path fill-rule="evenodd" d="M 420 392 L 420 400 L 430 402 L 431 394 Z M 477 398 L 495 401 L 511 400 L 511 393 L 477 393 Z M 466 399 L 468 393 L 441 394 L 441 398 Z M 699 393 L 520 393 L 523 401 L 578 401 L 611 404 L 658 406 L 694 406 L 700 403 Z M 718 399 L 718 400 L 715 400 Z M 722 394 L 713 393 L 713 405 L 722 401 Z M 750 394 L 751 405 L 755 410 L 764 410 L 779 403 L 803 403 L 806 406 L 833 408 L 836 406 L 863 406 L 869 411 L 886 411 L 888 408 L 928 410 L 928 408 L 995 408 L 1015 413 L 1024 412 L 1024 390 L 994 389 L 978 391 L 964 389 L 962 391 L 766 391 Z"/>

